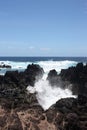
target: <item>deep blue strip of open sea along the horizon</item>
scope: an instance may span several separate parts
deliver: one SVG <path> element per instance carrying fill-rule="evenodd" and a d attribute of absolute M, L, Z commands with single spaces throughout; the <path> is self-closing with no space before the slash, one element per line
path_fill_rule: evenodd
<path fill-rule="evenodd" d="M 0 57 L 0 61 L 15 61 L 15 62 L 36 62 L 36 61 L 77 61 L 77 62 L 87 62 L 87 57 Z"/>

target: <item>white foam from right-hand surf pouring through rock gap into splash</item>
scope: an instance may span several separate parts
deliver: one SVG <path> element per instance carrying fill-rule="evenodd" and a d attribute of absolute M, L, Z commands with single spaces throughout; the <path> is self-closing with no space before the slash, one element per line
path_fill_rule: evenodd
<path fill-rule="evenodd" d="M 61 89 L 61 86 L 51 86 L 46 80 L 47 74 L 50 70 L 55 69 L 58 73 L 61 69 L 66 69 L 70 66 L 75 66 L 77 63 L 74 61 L 40 61 L 38 64 L 44 69 L 44 76 L 41 80 L 35 83 L 35 86 L 28 86 L 27 90 L 30 93 L 37 93 L 36 97 L 39 104 L 44 110 L 56 103 L 61 98 L 76 97 L 72 95 L 71 90 Z"/>

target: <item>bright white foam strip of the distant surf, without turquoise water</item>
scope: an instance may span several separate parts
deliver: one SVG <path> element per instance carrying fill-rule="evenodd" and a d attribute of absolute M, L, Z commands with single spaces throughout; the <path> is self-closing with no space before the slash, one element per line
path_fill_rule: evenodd
<path fill-rule="evenodd" d="M 71 65 L 75 65 L 77 62 L 75 61 L 38 61 L 38 62 L 33 62 L 36 64 L 39 64 L 45 72 L 48 72 L 51 69 L 56 69 L 57 71 L 60 71 L 61 68 L 67 68 Z M 32 62 L 15 62 L 15 61 L 0 61 L 0 65 L 5 64 L 5 65 L 11 65 L 12 68 L 27 68 L 28 64 L 32 64 Z"/>

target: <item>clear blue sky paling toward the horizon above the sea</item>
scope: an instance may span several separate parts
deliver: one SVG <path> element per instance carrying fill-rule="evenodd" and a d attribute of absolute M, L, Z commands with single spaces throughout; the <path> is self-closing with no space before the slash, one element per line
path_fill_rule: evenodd
<path fill-rule="evenodd" d="M 87 56 L 87 0 L 0 0 L 0 56 Z"/>

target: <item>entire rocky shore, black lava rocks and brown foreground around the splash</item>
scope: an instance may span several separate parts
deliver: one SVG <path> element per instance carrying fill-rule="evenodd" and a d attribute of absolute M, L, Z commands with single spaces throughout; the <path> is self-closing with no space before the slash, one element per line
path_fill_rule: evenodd
<path fill-rule="evenodd" d="M 28 65 L 24 72 L 7 71 L 0 76 L 0 130 L 87 130 L 87 65 L 51 70 L 47 80 L 54 86 L 67 84 L 77 98 L 60 99 L 48 110 L 39 105 L 36 95 L 27 93 L 42 78 L 43 68 Z"/>

